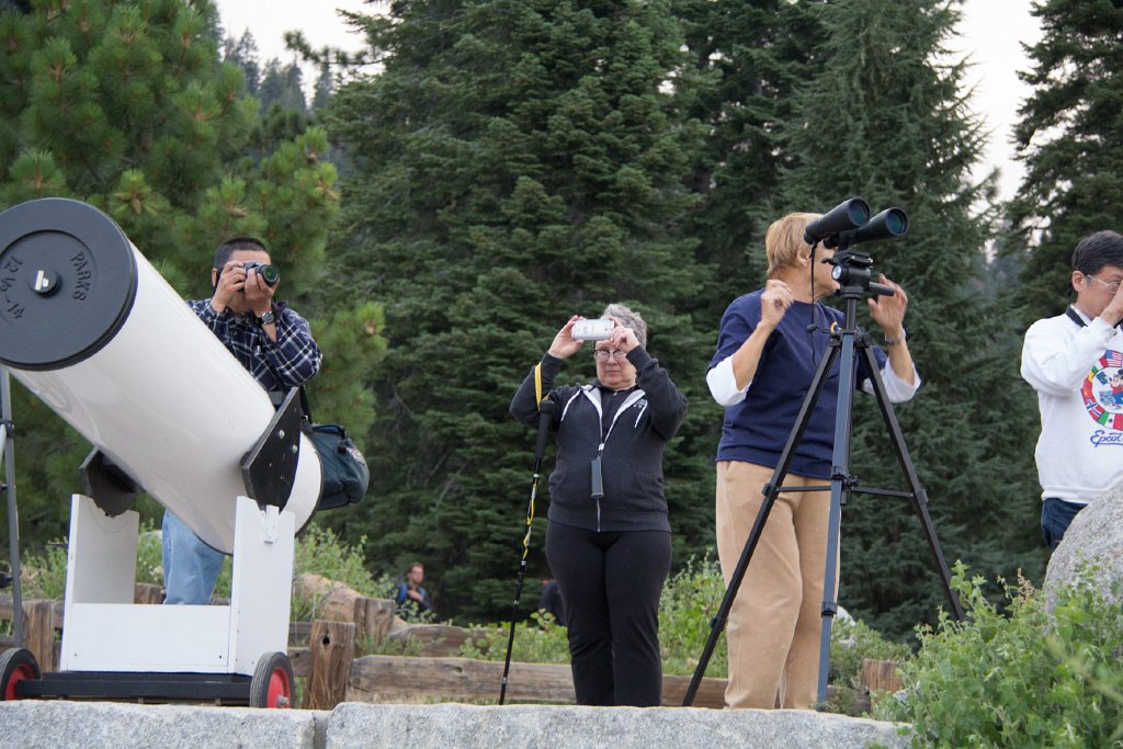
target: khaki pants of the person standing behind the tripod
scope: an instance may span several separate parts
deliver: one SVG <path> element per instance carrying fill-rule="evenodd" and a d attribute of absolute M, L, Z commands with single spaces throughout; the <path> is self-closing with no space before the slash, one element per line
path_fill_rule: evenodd
<path fill-rule="evenodd" d="M 727 585 L 773 473 L 751 463 L 718 463 L 718 556 Z M 791 474 L 784 479 L 785 486 L 827 483 Z M 773 503 L 729 613 L 728 706 L 814 706 L 829 520 L 829 491 L 782 492 Z"/>

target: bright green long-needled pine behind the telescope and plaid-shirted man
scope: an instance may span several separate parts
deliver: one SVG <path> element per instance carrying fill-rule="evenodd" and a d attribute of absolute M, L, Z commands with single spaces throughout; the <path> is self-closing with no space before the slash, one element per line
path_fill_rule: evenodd
<path fill-rule="evenodd" d="M 206 0 L 54 0 L 0 12 L 0 202 L 61 195 L 102 209 L 186 298 L 210 294 L 216 245 L 262 237 L 283 296 L 314 334 L 347 347 L 335 362 L 325 347 L 331 374 L 310 387 L 318 414 L 368 409 L 356 386 L 377 357 L 381 312 L 360 304 L 343 314 L 350 300 L 313 296 L 339 199 L 327 136 L 309 129 L 247 156 L 257 102 L 241 72 L 219 61 L 216 28 Z M 339 328 L 323 329 L 318 314 Z M 65 497 L 89 446 L 16 394 L 24 537 L 45 541 L 65 533 Z"/>

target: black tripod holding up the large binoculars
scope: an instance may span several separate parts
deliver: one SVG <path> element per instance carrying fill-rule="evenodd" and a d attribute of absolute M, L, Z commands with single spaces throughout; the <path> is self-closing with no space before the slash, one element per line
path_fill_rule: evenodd
<path fill-rule="evenodd" d="M 912 502 L 913 510 L 915 510 L 916 517 L 920 519 L 921 527 L 924 529 L 924 536 L 928 539 L 929 548 L 932 550 L 932 557 L 935 559 L 937 566 L 939 567 L 940 581 L 943 585 L 943 594 L 948 599 L 948 605 L 951 608 L 951 611 L 957 620 L 964 619 L 964 611 L 959 605 L 959 599 L 951 590 L 951 576 L 948 573 L 948 565 L 943 560 L 943 552 L 940 550 L 940 542 L 935 537 L 935 529 L 932 527 L 932 520 L 928 514 L 928 494 L 920 485 L 920 479 L 916 477 L 916 471 L 913 467 L 912 459 L 909 457 L 909 449 L 905 447 L 904 437 L 901 433 L 901 426 L 897 423 L 896 415 L 893 413 L 893 408 L 889 404 L 888 396 L 886 395 L 885 383 L 882 381 L 882 375 L 877 366 L 877 359 L 874 357 L 869 338 L 865 334 L 860 334 L 858 331 L 858 300 L 865 296 L 867 292 L 878 295 L 892 295 L 894 290 L 883 284 L 870 283 L 869 278 L 871 273 L 869 268 L 873 263 L 869 259 L 869 256 L 864 253 L 841 248 L 833 258 L 824 262 L 829 262 L 834 266 L 831 275 L 836 281 L 839 281 L 842 284 L 838 293 L 842 296 L 846 304 L 843 326 L 841 330 L 831 334 L 830 347 L 823 356 L 823 359 L 819 365 L 819 369 L 815 372 L 811 387 L 807 390 L 807 395 L 803 400 L 803 405 L 800 408 L 800 414 L 796 417 L 795 424 L 793 426 L 792 431 L 788 435 L 787 442 L 784 445 L 784 449 L 780 453 L 776 471 L 773 473 L 772 481 L 764 487 L 764 504 L 760 506 L 760 511 L 757 513 L 757 518 L 752 523 L 752 530 L 749 531 L 749 538 L 745 544 L 745 549 L 741 551 L 740 559 L 737 561 L 737 568 L 730 577 L 729 587 L 725 590 L 725 596 L 722 599 L 718 613 L 713 618 L 710 637 L 702 651 L 702 657 L 699 659 L 697 668 L 694 669 L 694 676 L 691 678 L 690 687 L 686 689 L 683 706 L 690 706 L 694 701 L 694 695 L 697 692 L 699 685 L 702 683 L 702 676 L 705 674 L 706 666 L 709 666 L 710 658 L 713 656 L 713 650 L 718 645 L 718 638 L 721 637 L 721 632 L 725 628 L 725 621 L 729 619 L 729 611 L 733 605 L 733 599 L 737 597 L 737 592 L 740 588 L 741 581 L 748 569 L 749 560 L 752 558 L 752 552 L 757 547 L 757 542 L 760 540 L 760 533 L 764 531 L 765 523 L 768 521 L 768 513 L 772 512 L 773 504 L 776 502 L 776 495 L 779 492 L 818 492 L 827 488 L 830 488 L 831 491 L 830 523 L 827 531 L 827 569 L 823 576 L 823 625 L 819 646 L 818 700 L 820 705 L 827 702 L 827 675 L 828 657 L 831 645 L 831 624 L 833 623 L 834 614 L 838 612 L 838 602 L 834 600 L 834 576 L 839 526 L 841 524 L 842 505 L 847 503 L 850 492 L 876 494 L 882 496 L 898 496 L 907 499 Z M 857 356 L 859 351 L 861 351 L 861 355 L 865 357 L 866 366 L 871 373 L 874 394 L 877 396 L 877 405 L 880 409 L 882 417 L 885 419 L 885 424 L 889 431 L 893 449 L 896 453 L 897 462 L 901 464 L 901 471 L 909 484 L 910 491 L 907 492 L 867 487 L 859 488 L 857 476 L 853 476 L 850 473 L 850 433 L 853 414 L 855 380 L 857 377 Z M 803 432 L 807 428 L 807 422 L 812 411 L 814 410 L 815 402 L 819 400 L 819 395 L 822 392 L 832 365 L 836 359 L 839 358 L 841 358 L 839 372 L 839 402 L 838 411 L 834 418 L 834 448 L 831 456 L 830 486 L 784 487 L 782 484 L 784 482 L 784 477 L 788 473 L 788 468 L 791 467 L 792 458 L 795 455 L 795 446 L 803 439 Z"/>

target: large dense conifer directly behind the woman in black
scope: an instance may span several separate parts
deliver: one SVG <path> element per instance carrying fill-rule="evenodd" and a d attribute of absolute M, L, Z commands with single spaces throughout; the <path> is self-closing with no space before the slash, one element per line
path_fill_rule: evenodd
<path fill-rule="evenodd" d="M 533 440 L 508 405 L 562 323 L 631 303 L 679 385 L 701 380 L 709 341 L 679 314 L 699 290 L 677 230 L 691 134 L 664 88 L 682 39 L 663 1 L 414 0 L 365 33 L 384 70 L 343 85 L 328 122 L 356 170 L 334 262 L 347 293 L 385 302 L 391 339 L 368 558 L 423 559 L 441 615 L 505 616 Z M 592 374 L 585 355 L 562 377 Z M 681 548 L 712 536 L 685 435 L 666 486 Z"/>

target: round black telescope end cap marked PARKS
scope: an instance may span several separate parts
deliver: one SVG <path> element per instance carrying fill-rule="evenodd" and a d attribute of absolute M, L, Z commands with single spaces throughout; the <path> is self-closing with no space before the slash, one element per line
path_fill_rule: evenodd
<path fill-rule="evenodd" d="M 101 350 L 136 300 L 134 252 L 111 218 L 76 200 L 0 213 L 0 364 L 61 369 Z"/>

